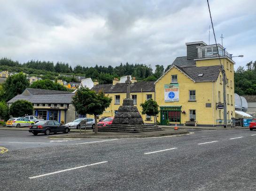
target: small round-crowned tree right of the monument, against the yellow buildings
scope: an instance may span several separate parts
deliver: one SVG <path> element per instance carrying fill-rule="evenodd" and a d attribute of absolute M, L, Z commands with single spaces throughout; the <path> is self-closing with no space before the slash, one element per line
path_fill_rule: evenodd
<path fill-rule="evenodd" d="M 149 99 L 144 103 L 140 103 L 142 107 L 142 114 L 147 114 L 148 116 L 155 116 L 154 121 L 156 123 L 156 115 L 159 113 L 158 107 L 159 105 L 153 100 Z"/>

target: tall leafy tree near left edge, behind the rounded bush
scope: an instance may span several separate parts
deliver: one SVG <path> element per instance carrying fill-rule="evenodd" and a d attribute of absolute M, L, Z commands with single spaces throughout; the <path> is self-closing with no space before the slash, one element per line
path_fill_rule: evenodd
<path fill-rule="evenodd" d="M 2 100 L 9 101 L 18 94 L 21 94 L 29 86 L 29 81 L 23 73 L 9 76 L 3 83 Z"/>

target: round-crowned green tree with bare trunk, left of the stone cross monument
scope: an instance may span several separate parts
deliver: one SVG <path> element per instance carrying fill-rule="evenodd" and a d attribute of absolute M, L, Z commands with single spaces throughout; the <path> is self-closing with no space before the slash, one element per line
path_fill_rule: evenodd
<path fill-rule="evenodd" d="M 78 88 L 73 97 L 72 104 L 77 112 L 81 115 L 90 114 L 95 119 L 95 134 L 98 133 L 97 115 L 101 115 L 109 107 L 112 98 L 104 95 L 103 92 L 98 94 L 89 88 Z"/>

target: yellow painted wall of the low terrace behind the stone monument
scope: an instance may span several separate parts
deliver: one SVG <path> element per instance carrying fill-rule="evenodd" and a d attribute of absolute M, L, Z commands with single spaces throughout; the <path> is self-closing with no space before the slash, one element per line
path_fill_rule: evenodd
<path fill-rule="evenodd" d="M 143 120 L 145 123 L 154 123 L 154 117 L 151 117 L 151 120 L 146 121 L 146 115 L 142 115 L 142 108 L 140 107 L 140 103 L 144 103 L 147 100 L 147 94 L 151 94 L 152 95 L 152 99 L 155 99 L 155 92 L 135 92 L 135 93 L 131 93 L 131 98 L 132 95 L 137 95 L 137 104 L 135 104 L 134 106 L 137 106 L 140 115 L 142 116 Z M 107 94 L 109 95 L 109 97 L 112 97 L 112 102 L 110 104 L 110 107 L 107 108 L 103 114 L 100 116 L 101 117 L 114 117 L 115 116 L 115 110 L 118 110 L 118 108 L 123 105 L 123 100 L 124 98 L 126 98 L 126 93 L 109 93 Z M 120 104 L 115 104 L 115 95 L 120 95 Z M 87 115 L 87 117 L 89 118 L 93 118 L 93 116 L 91 115 Z"/>

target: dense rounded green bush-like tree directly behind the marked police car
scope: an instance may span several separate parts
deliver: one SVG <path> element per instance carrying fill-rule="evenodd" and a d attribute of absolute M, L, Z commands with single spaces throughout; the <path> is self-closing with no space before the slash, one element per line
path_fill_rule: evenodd
<path fill-rule="evenodd" d="M 10 115 L 13 117 L 22 117 L 25 115 L 32 115 L 33 105 L 26 100 L 17 100 L 10 106 Z"/>

